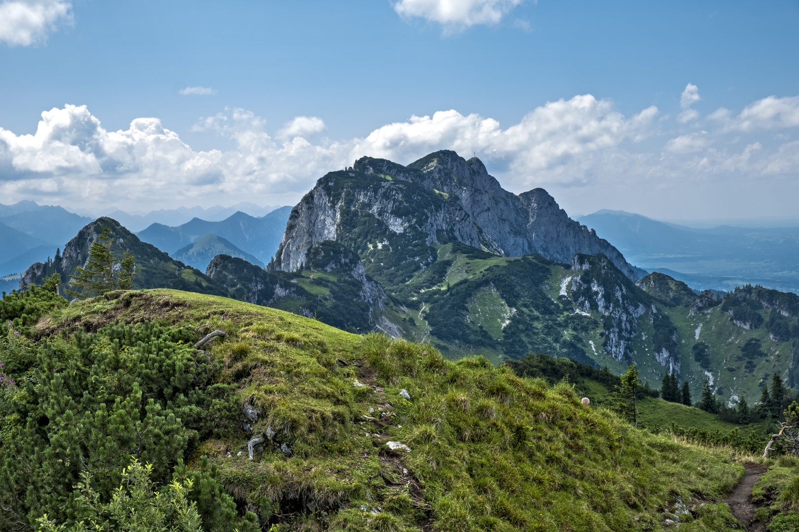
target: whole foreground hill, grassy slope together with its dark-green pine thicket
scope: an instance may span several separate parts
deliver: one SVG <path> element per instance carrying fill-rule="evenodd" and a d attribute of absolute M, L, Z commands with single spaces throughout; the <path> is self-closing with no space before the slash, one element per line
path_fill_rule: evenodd
<path fill-rule="evenodd" d="M 2 530 L 78 518 L 81 471 L 107 495 L 130 455 L 157 482 L 224 487 L 193 492 L 205 530 L 662 530 L 678 497 L 681 530 L 736 526 L 729 451 L 634 429 L 570 384 L 227 298 L 43 292 L 40 319 L 2 325 Z"/>

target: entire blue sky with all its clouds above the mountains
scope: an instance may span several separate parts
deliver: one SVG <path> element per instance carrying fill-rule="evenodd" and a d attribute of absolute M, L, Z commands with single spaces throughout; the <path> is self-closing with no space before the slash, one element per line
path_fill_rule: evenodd
<path fill-rule="evenodd" d="M 293 204 L 478 156 L 570 213 L 797 215 L 799 2 L 0 0 L 0 203 Z"/>

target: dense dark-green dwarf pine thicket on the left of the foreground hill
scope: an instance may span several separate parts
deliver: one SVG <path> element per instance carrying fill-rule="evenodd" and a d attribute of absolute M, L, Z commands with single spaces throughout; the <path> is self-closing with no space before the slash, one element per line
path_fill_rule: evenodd
<path fill-rule="evenodd" d="M 102 498 L 117 489 L 131 456 L 155 464 L 154 482 L 169 483 L 197 441 L 229 435 L 239 415 L 233 388 L 215 383 L 220 363 L 195 356 L 196 337 L 189 327 L 146 322 L 75 333 L 69 342 L 0 345 L 3 356 L 35 361 L 16 376 L 18 388 L 0 387 L 10 414 L 0 447 L 6 513 L 72 523 L 72 488 L 84 471 Z"/>

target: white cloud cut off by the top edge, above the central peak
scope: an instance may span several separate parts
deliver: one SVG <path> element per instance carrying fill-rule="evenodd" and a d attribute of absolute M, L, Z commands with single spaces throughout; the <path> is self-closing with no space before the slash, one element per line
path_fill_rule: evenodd
<path fill-rule="evenodd" d="M 421 17 L 449 30 L 475 24 L 496 24 L 523 0 L 398 0 L 394 10 L 402 17 Z"/>

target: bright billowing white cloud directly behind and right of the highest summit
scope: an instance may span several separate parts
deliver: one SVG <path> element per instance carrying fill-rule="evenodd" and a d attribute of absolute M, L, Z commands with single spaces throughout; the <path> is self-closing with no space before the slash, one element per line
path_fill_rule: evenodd
<path fill-rule="evenodd" d="M 583 157 L 646 138 L 657 114 L 653 106 L 626 119 L 610 100 L 590 94 L 548 102 L 505 130 L 491 118 L 439 111 L 376 129 L 357 142 L 350 159 L 369 155 L 407 161 L 447 148 L 464 156 L 476 152 L 502 159 L 522 186 L 540 179 L 579 183 L 587 178 Z"/>

